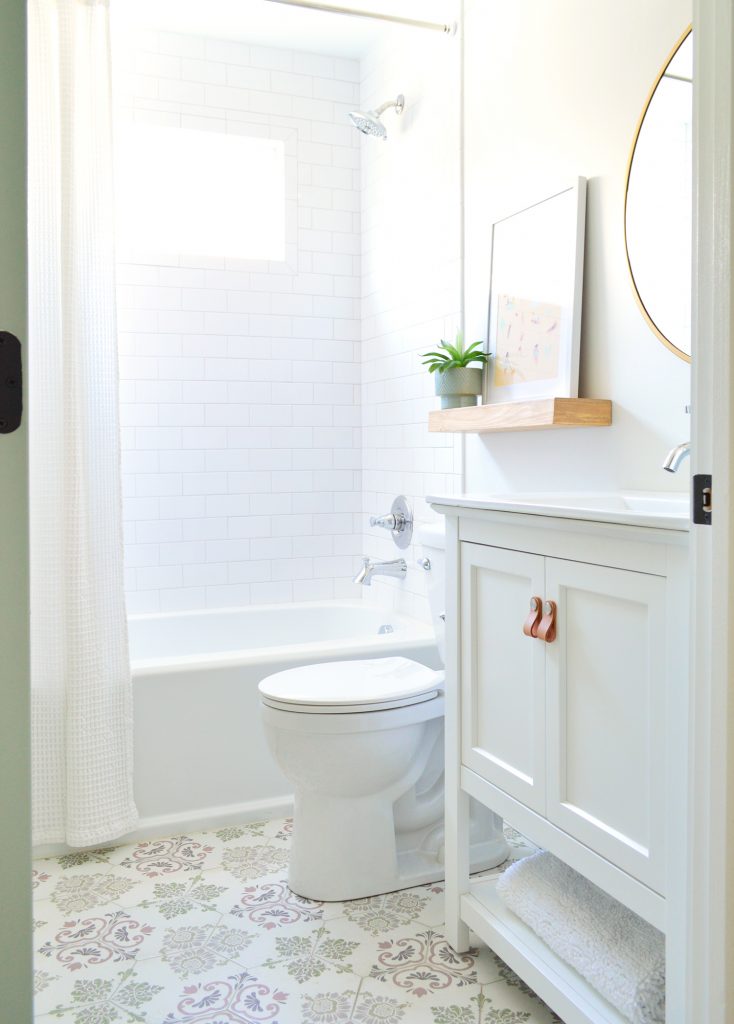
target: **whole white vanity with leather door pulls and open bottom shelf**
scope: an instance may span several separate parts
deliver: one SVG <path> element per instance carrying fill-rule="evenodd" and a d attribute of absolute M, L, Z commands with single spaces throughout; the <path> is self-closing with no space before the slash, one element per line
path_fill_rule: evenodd
<path fill-rule="evenodd" d="M 429 498 L 446 516 L 446 927 L 566 1024 L 622 1017 L 470 881 L 474 797 L 665 933 L 682 1021 L 688 508 L 682 497 Z M 537 602 L 539 615 L 532 610 Z"/>

